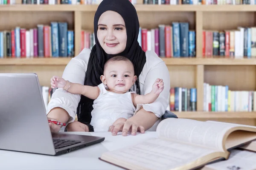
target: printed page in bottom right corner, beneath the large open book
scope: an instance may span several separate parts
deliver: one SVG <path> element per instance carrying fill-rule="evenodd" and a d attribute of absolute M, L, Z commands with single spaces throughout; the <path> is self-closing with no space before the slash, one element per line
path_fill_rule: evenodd
<path fill-rule="evenodd" d="M 256 153 L 231 150 L 229 159 L 205 166 L 202 170 L 255 170 Z"/>

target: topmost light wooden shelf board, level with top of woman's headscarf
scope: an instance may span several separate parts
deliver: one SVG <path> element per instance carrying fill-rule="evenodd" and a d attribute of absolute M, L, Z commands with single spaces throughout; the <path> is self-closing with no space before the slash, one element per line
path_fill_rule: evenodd
<path fill-rule="evenodd" d="M 256 5 L 134 5 L 140 11 L 256 11 Z M 0 5 L 0 11 L 96 11 L 98 5 Z"/>

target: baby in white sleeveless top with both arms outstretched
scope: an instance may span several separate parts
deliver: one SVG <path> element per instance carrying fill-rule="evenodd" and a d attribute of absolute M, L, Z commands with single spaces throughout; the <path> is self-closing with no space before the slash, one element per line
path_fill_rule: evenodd
<path fill-rule="evenodd" d="M 51 79 L 52 88 L 63 88 L 72 94 L 94 99 L 90 125 L 95 132 L 108 131 L 111 125 L 126 121 L 133 116 L 137 104 L 154 102 L 164 88 L 163 79 L 157 78 L 148 94 L 138 95 L 130 91 L 137 76 L 134 75 L 133 63 L 122 56 L 109 59 L 104 65 L 103 74 L 100 77 L 102 83 L 94 87 L 72 83 L 57 76 Z"/>

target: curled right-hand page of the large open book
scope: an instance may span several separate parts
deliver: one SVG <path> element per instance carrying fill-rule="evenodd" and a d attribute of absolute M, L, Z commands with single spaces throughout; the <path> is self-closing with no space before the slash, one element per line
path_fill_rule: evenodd
<path fill-rule="evenodd" d="M 160 138 L 224 151 L 222 147 L 224 134 L 236 126 L 235 124 L 201 122 L 192 119 L 164 119 L 157 126 L 157 134 Z"/>

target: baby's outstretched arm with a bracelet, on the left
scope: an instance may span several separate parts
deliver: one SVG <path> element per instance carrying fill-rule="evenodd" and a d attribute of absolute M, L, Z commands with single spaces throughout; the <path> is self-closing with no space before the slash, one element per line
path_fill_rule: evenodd
<path fill-rule="evenodd" d="M 63 88 L 72 94 L 81 94 L 90 99 L 96 99 L 99 96 L 98 86 L 81 85 L 79 83 L 69 82 L 61 77 L 53 76 L 51 78 L 52 88 Z"/>

